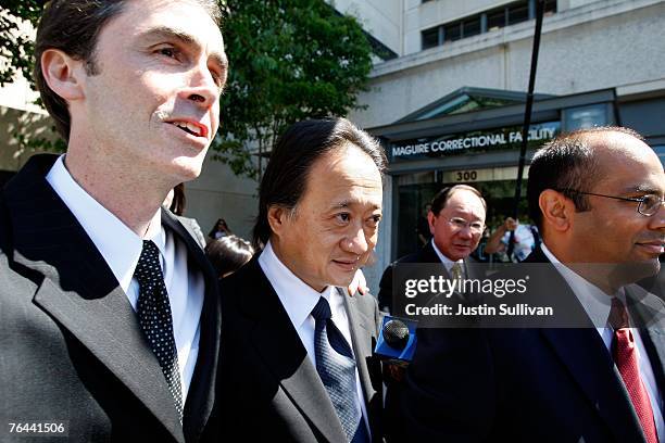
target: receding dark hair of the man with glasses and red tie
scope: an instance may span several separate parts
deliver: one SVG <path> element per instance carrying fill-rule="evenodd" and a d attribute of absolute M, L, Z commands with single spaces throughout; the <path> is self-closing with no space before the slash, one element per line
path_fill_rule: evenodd
<path fill-rule="evenodd" d="M 577 212 L 591 210 L 589 200 L 579 192 L 588 192 L 598 181 L 599 166 L 592 135 L 623 132 L 639 140 L 642 136 L 629 128 L 601 126 L 561 135 L 536 151 L 529 167 L 527 201 L 529 216 L 542 231 L 542 214 L 538 203 L 545 189 L 562 192 L 575 204 Z"/>

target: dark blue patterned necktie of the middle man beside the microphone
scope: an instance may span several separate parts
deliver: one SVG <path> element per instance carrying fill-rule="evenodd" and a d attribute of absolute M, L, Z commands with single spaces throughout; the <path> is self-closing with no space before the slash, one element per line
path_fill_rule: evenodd
<path fill-rule="evenodd" d="M 330 319 L 330 305 L 323 296 L 312 309 L 315 320 L 314 353 L 316 371 L 328 391 L 347 441 L 368 442 L 355 389 L 355 358 L 351 346 Z"/>

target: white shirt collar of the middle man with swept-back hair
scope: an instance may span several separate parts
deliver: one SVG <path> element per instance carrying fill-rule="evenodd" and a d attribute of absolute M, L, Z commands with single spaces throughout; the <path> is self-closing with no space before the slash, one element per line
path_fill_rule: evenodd
<path fill-rule="evenodd" d="M 328 286 L 321 293 L 316 292 L 279 261 L 269 241 L 259 256 L 259 265 L 297 329 L 308 319 L 321 296 L 330 303 L 335 287 Z"/>

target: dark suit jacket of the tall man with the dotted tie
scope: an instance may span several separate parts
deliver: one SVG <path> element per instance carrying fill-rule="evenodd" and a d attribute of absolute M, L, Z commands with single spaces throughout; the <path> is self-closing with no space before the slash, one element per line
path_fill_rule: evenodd
<path fill-rule="evenodd" d="M 37 155 L 0 197 L 0 440 L 11 422 L 64 422 L 68 441 L 200 441 L 214 403 L 216 276 L 168 212 L 205 276 L 199 357 L 181 426 L 165 378 L 113 273 L 45 177 Z M 147 436 L 146 436 L 147 435 Z"/>

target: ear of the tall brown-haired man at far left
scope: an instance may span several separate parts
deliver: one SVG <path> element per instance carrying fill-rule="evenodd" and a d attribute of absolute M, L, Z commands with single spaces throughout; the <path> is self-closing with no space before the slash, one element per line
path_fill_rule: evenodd
<path fill-rule="evenodd" d="M 59 49 L 47 49 L 41 54 L 41 73 L 58 96 L 65 101 L 83 99 L 83 76 L 86 75 L 84 62 L 72 59 Z"/>

